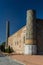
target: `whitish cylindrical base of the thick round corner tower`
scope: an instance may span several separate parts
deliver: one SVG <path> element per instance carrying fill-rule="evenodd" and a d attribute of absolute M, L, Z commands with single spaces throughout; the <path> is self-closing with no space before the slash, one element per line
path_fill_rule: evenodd
<path fill-rule="evenodd" d="M 37 45 L 24 45 L 24 54 L 37 54 Z"/>

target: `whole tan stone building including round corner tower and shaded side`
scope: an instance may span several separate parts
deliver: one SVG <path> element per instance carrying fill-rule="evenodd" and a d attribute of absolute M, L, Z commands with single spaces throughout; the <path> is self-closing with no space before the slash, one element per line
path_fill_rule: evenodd
<path fill-rule="evenodd" d="M 27 10 L 26 25 L 8 37 L 8 46 L 16 54 L 43 54 L 43 20 L 35 10 Z"/>

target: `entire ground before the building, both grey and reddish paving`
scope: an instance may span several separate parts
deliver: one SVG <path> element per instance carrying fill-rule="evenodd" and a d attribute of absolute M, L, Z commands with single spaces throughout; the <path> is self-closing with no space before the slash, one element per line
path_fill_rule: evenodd
<path fill-rule="evenodd" d="M 0 65 L 43 65 L 43 55 L 0 53 Z"/>

